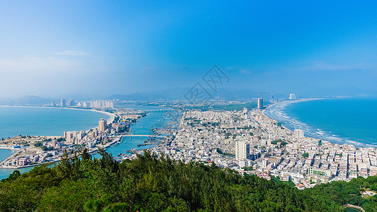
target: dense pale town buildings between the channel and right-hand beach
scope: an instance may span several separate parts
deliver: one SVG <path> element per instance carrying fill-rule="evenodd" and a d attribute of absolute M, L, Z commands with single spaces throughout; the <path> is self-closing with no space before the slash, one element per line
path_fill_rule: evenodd
<path fill-rule="evenodd" d="M 151 151 L 186 163 L 214 162 L 266 179 L 292 180 L 299 189 L 377 174 L 376 148 L 308 138 L 260 110 L 184 112 L 175 139 Z"/>

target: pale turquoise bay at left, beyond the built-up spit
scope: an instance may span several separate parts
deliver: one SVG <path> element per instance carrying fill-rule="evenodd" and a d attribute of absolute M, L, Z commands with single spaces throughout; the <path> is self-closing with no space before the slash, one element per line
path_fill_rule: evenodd
<path fill-rule="evenodd" d="M 0 139 L 8 136 L 62 136 L 64 131 L 88 130 L 107 114 L 90 110 L 45 107 L 0 107 Z"/>

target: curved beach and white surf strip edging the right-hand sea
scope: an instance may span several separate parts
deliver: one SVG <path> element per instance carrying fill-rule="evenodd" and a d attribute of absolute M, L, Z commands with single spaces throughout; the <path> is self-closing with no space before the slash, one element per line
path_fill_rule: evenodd
<path fill-rule="evenodd" d="M 289 117 L 286 114 L 282 115 L 282 109 L 284 109 L 288 105 L 291 105 L 291 104 L 294 104 L 294 103 L 297 103 L 297 102 L 307 102 L 307 101 L 311 101 L 311 100 L 331 100 L 331 99 L 342 99 L 342 98 L 352 98 L 352 97 L 342 96 L 342 97 L 334 97 L 334 98 L 304 98 L 304 99 L 300 99 L 300 100 L 284 100 L 282 102 L 277 102 L 277 103 L 274 103 L 272 105 L 269 105 L 267 108 L 265 108 L 265 110 L 262 110 L 262 114 L 265 117 L 272 119 L 274 122 L 282 122 L 282 127 L 284 129 L 291 131 L 292 133 L 293 133 L 293 129 L 289 129 L 289 126 L 284 126 L 284 123 L 283 123 L 284 121 L 287 122 L 286 120 L 290 120 L 291 122 L 288 122 L 288 123 L 289 123 L 289 125 L 291 125 L 291 128 L 292 128 L 292 126 L 294 126 L 296 124 L 299 126 L 297 128 L 293 127 L 294 129 L 300 129 L 302 126 L 304 126 L 306 138 L 321 139 L 323 141 L 329 141 L 330 143 L 339 144 L 339 145 L 344 145 L 344 144 L 345 145 L 353 145 L 356 148 L 358 148 L 358 147 L 366 147 L 366 148 L 373 147 L 373 148 L 375 148 L 376 145 L 369 144 L 369 143 L 362 143 L 360 141 L 352 141 L 352 140 L 349 140 L 349 139 L 344 139 L 344 137 L 342 137 L 342 136 L 336 136 L 336 137 L 335 137 L 335 135 L 328 136 L 327 134 L 330 134 L 331 133 L 330 131 L 326 131 L 326 130 L 323 130 L 323 129 L 315 130 L 313 127 L 309 126 L 308 124 L 306 124 L 304 122 L 298 121 L 297 119 Z M 268 114 L 267 110 L 270 110 L 270 107 L 276 107 L 277 105 L 283 105 L 283 107 L 278 107 L 278 108 L 272 110 L 272 112 L 270 114 Z M 281 121 L 277 120 L 276 116 L 277 116 L 278 113 L 280 113 L 280 115 L 282 116 L 282 117 L 280 117 L 282 119 Z M 287 123 L 285 123 L 285 124 L 287 124 Z"/>

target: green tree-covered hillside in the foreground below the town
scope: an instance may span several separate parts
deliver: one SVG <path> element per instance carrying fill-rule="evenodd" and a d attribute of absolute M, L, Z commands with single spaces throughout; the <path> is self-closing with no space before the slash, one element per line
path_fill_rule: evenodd
<path fill-rule="evenodd" d="M 149 152 L 117 163 L 100 151 L 42 165 L 0 182 L 0 211 L 344 211 L 343 204 L 377 211 L 377 177 L 298 190 L 288 184 L 202 163 L 181 163 Z"/>

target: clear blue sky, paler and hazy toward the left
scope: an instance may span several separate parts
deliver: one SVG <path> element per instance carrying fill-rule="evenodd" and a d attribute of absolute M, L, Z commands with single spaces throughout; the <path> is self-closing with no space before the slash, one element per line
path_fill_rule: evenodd
<path fill-rule="evenodd" d="M 377 93 L 375 1 L 0 1 L 0 97 Z"/>

